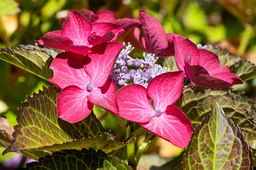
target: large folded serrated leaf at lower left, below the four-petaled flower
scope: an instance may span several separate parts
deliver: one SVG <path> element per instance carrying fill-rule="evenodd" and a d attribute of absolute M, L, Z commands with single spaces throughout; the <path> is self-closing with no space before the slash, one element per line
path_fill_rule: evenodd
<path fill-rule="evenodd" d="M 92 113 L 84 120 L 70 124 L 57 116 L 56 87 L 44 87 L 39 94 L 27 97 L 23 107 L 19 109 L 18 125 L 14 126 L 14 140 L 3 152 L 11 151 L 45 151 L 94 148 L 110 152 L 130 143 L 119 142 L 112 133 L 104 133 L 104 129 Z"/>

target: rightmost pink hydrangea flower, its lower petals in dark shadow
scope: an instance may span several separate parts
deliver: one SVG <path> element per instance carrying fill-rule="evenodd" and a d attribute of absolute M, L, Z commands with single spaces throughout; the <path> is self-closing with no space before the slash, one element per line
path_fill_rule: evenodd
<path fill-rule="evenodd" d="M 229 66 L 220 65 L 213 52 L 197 49 L 192 41 L 181 36 L 175 36 L 174 43 L 177 67 L 196 86 L 225 88 L 243 83 L 236 74 L 230 73 Z"/>

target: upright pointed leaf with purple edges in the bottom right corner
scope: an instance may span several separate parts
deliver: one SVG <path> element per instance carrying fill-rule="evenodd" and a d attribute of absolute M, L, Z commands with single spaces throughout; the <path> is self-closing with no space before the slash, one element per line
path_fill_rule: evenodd
<path fill-rule="evenodd" d="M 183 158 L 183 169 L 253 169 L 249 146 L 217 100 L 197 125 Z"/>

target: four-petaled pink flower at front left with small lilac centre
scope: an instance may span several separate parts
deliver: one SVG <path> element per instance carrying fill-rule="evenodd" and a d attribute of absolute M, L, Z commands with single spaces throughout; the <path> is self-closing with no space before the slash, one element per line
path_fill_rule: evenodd
<path fill-rule="evenodd" d="M 109 80 L 115 61 L 123 48 L 120 42 L 93 46 L 86 57 L 73 52 L 60 53 L 50 69 L 49 81 L 61 89 L 57 96 L 57 113 L 70 123 L 83 120 L 93 104 L 118 114 L 115 84 Z"/>

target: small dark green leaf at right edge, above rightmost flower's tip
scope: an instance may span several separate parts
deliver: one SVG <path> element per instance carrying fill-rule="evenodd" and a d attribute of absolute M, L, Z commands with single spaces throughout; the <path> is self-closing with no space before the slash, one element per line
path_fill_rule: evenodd
<path fill-rule="evenodd" d="M 230 73 L 238 75 L 243 81 L 250 80 L 256 76 L 256 66 L 246 59 L 234 63 L 229 69 Z"/>

